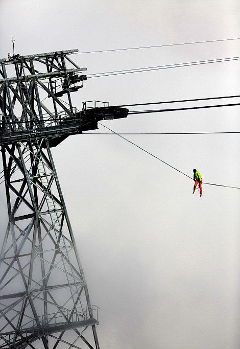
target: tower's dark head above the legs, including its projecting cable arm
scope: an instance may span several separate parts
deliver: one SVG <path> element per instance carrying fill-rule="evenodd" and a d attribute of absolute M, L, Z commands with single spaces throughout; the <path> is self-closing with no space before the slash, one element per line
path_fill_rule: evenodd
<path fill-rule="evenodd" d="M 128 109 L 112 108 L 106 102 L 85 102 L 82 110 L 72 105 L 70 92 L 82 88 L 87 79 L 83 75 L 86 67 L 79 67 L 69 58 L 77 52 L 76 49 L 0 59 L 0 144 L 47 137 L 50 146 L 56 146 L 69 134 L 97 128 L 99 120 L 127 116 Z M 16 74 L 9 77 L 12 66 Z M 67 103 L 60 99 L 64 95 Z M 58 135 L 62 137 L 56 140 Z"/>

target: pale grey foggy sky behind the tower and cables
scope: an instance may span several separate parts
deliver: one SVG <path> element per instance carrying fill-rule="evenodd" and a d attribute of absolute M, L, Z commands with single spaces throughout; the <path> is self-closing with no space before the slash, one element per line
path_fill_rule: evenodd
<path fill-rule="evenodd" d="M 0 0 L 0 16 L 1 58 L 12 52 L 11 35 L 21 55 L 240 37 L 237 0 Z M 240 40 L 72 58 L 91 74 L 233 56 Z M 231 61 L 92 78 L 73 104 L 237 95 L 239 73 Z M 105 124 L 115 132 L 239 131 L 239 106 Z M 196 168 L 205 182 L 239 187 L 238 134 L 126 137 L 190 176 Z M 193 181 L 117 136 L 71 136 L 53 155 L 91 302 L 101 308 L 101 349 L 238 348 L 240 191 L 203 185 L 193 196 Z M 0 193 L 3 237 L 3 184 Z"/>

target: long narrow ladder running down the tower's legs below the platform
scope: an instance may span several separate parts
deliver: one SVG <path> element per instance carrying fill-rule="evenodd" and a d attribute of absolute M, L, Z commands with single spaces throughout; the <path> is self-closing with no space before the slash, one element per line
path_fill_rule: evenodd
<path fill-rule="evenodd" d="M 43 140 L 41 142 L 43 142 Z M 61 228 L 61 224 L 57 214 L 56 204 L 53 198 L 53 194 L 51 192 L 51 185 L 48 178 L 50 175 L 54 176 L 54 173 L 52 172 L 52 170 L 49 173 L 46 172 L 46 168 L 49 169 L 49 167 L 45 164 L 42 158 L 41 147 L 38 144 L 38 140 L 36 139 L 36 141 L 34 142 L 31 141 L 31 143 L 32 143 L 32 149 L 33 149 L 33 156 L 34 156 L 35 163 L 38 170 L 38 176 L 42 185 L 42 191 L 43 191 L 45 202 L 48 208 L 47 211 L 49 212 L 49 215 L 51 217 L 52 229 L 55 232 L 56 242 L 61 254 L 61 259 L 63 262 L 64 270 L 65 270 L 67 281 L 69 284 L 71 298 L 73 299 L 73 302 L 74 302 L 73 308 L 78 313 L 80 309 L 78 310 L 77 304 L 79 303 L 81 305 L 80 294 L 76 284 L 76 277 L 74 275 L 74 271 L 69 260 L 65 239 L 62 234 L 62 228 Z M 34 151 L 34 147 L 36 151 Z M 82 305 L 81 305 L 81 311 L 83 311 Z"/>

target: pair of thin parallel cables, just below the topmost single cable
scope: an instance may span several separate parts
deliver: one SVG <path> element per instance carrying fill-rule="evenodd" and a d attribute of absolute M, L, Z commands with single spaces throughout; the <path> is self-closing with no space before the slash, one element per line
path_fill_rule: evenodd
<path fill-rule="evenodd" d="M 235 60 L 239 60 L 239 59 L 240 59 L 240 57 L 229 57 L 229 58 L 219 58 L 219 59 L 211 59 L 211 60 L 205 60 L 205 61 L 176 63 L 176 64 L 168 64 L 168 65 L 157 65 L 157 66 L 150 66 L 150 67 L 144 67 L 144 68 L 124 69 L 122 71 L 112 71 L 112 72 L 88 74 L 87 78 L 90 79 L 90 78 L 98 78 L 98 77 L 110 76 L 110 75 L 141 73 L 141 72 L 156 71 L 156 70 L 160 70 L 160 69 L 180 68 L 180 67 L 184 67 L 184 66 L 228 62 L 228 61 L 235 61 Z"/>

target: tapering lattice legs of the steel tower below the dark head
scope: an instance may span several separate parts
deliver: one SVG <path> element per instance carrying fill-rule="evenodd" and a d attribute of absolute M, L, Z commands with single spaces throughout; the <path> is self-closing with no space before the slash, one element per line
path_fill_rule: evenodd
<path fill-rule="evenodd" d="M 44 139 L 6 146 L 3 159 L 9 174 L 10 219 L 1 253 L 0 347 L 18 347 L 11 345 L 21 339 L 26 344 L 26 336 L 29 342 L 52 336 L 59 329 L 63 340 L 64 330 L 86 328 L 98 320 L 97 308 L 90 306 L 50 147 Z M 92 347 L 83 335 L 80 338 Z"/>

